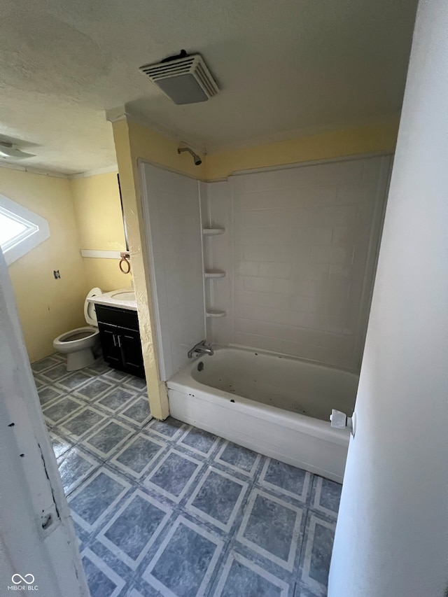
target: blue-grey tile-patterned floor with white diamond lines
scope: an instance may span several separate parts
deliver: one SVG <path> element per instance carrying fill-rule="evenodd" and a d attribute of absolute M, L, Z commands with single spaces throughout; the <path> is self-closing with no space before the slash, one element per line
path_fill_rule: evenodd
<path fill-rule="evenodd" d="M 326 595 L 341 486 L 151 419 L 102 362 L 32 369 L 92 597 Z"/>

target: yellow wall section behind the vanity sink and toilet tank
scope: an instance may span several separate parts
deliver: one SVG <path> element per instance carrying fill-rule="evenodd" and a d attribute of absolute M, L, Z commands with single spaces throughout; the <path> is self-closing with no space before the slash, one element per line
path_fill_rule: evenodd
<path fill-rule="evenodd" d="M 125 232 L 116 172 L 74 178 L 70 184 L 80 234 L 80 248 L 125 251 Z M 109 292 L 117 288 L 127 288 L 132 284 L 132 274 L 122 274 L 116 259 L 86 257 L 83 261 L 90 288 L 98 286 L 103 292 Z"/>

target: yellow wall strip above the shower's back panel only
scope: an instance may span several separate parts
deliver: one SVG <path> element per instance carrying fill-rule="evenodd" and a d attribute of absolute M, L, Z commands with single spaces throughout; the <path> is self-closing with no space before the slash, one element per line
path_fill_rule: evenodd
<path fill-rule="evenodd" d="M 398 118 L 375 124 L 328 130 L 254 147 L 220 151 L 207 155 L 207 181 L 227 178 L 232 172 L 327 160 L 361 153 L 393 153 L 398 134 Z"/>

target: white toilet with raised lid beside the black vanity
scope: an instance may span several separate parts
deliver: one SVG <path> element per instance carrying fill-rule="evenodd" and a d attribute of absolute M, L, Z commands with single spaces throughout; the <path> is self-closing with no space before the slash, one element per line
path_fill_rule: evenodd
<path fill-rule="evenodd" d="M 77 371 L 94 363 L 95 347 L 99 347 L 99 331 L 97 314 L 92 302 L 87 298 L 102 295 L 101 288 L 92 288 L 84 302 L 84 317 L 89 324 L 85 328 L 76 328 L 65 332 L 53 340 L 53 348 L 67 356 L 67 371 Z"/>

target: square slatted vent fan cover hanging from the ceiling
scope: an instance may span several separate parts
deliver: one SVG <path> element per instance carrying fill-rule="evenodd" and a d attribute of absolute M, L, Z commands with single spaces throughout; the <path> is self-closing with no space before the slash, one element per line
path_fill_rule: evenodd
<path fill-rule="evenodd" d="M 207 101 L 219 91 L 202 56 L 189 56 L 185 50 L 158 64 L 140 66 L 139 71 L 158 85 L 174 104 Z"/>

